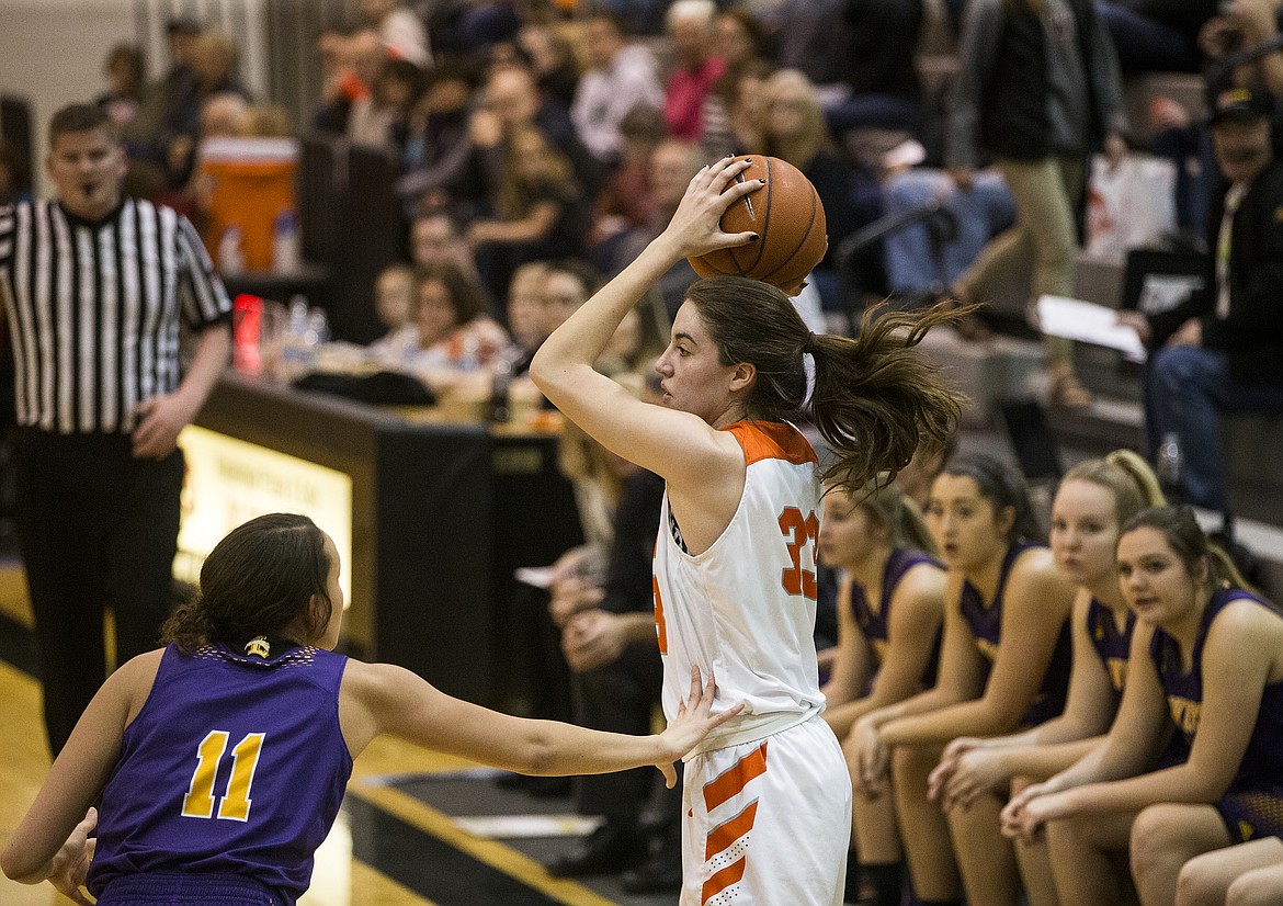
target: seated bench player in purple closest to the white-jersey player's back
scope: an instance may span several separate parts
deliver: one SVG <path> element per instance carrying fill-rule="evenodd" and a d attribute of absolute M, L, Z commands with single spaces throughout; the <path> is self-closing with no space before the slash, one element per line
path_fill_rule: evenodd
<path fill-rule="evenodd" d="M 917 504 L 898 484 L 854 494 L 833 488 L 824 498 L 820 562 L 840 571 L 824 719 L 838 739 L 862 715 L 935 685 L 944 567 L 934 553 Z M 854 796 L 851 806 L 847 898 L 898 906 L 903 853 L 894 803 Z"/>

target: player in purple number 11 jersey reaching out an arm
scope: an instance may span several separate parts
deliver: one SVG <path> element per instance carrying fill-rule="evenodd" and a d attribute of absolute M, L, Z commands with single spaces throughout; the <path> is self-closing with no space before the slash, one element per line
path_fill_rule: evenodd
<path fill-rule="evenodd" d="M 200 594 L 166 624 L 167 647 L 94 697 L 9 838 L 4 873 L 81 903 L 86 884 L 100 906 L 293 903 L 353 758 L 380 734 L 525 774 L 653 764 L 672 785 L 672 761 L 739 712 L 709 716 L 711 676 L 693 678 L 680 715 L 652 737 L 450 698 L 403 667 L 334 653 L 339 568 L 307 516 L 260 516 L 219 542 Z"/>

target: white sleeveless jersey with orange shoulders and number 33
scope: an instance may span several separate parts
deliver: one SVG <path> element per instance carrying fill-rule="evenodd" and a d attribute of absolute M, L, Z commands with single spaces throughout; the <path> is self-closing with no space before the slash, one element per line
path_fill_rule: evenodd
<path fill-rule="evenodd" d="M 713 710 L 744 712 L 697 752 L 777 733 L 824 707 L 815 654 L 820 466 L 794 426 L 736 422 L 747 475 L 725 531 L 699 554 L 675 539 L 665 494 L 654 553 L 654 610 L 665 657 L 663 712 L 690 694 L 690 669 L 717 676 Z"/>

